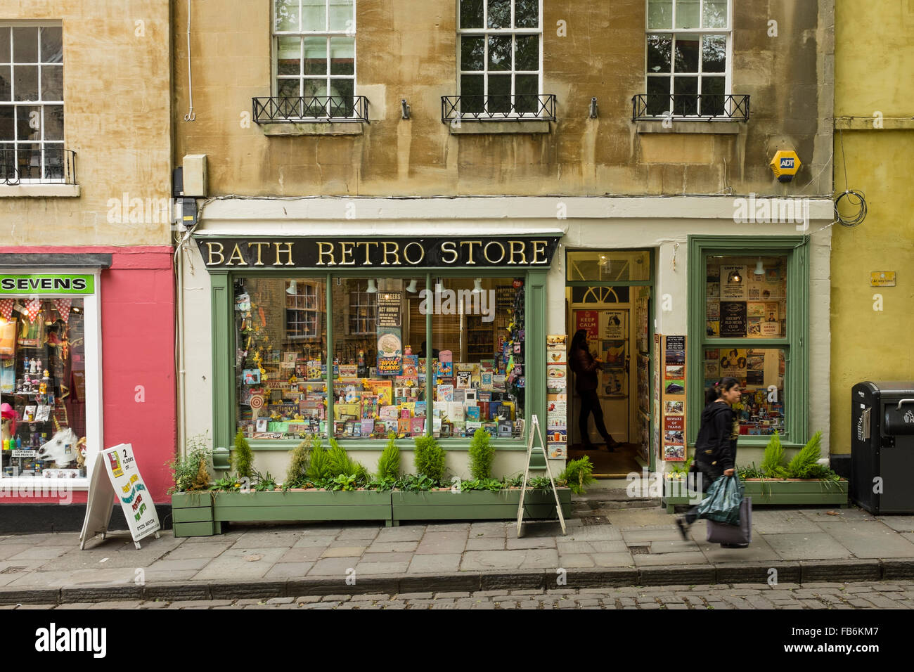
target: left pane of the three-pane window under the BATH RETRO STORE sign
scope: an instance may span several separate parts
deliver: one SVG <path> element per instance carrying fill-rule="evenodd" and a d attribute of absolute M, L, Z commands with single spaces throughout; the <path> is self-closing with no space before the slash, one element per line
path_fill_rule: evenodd
<path fill-rule="evenodd" d="M 250 438 L 326 433 L 325 285 L 303 278 L 235 285 L 236 418 Z"/>

